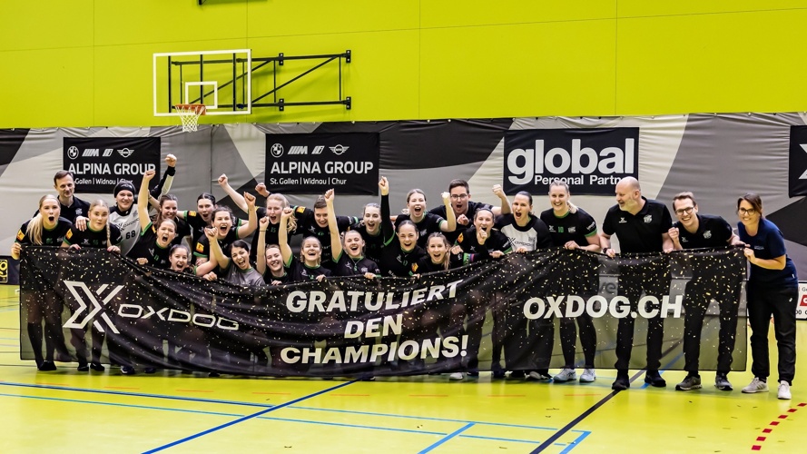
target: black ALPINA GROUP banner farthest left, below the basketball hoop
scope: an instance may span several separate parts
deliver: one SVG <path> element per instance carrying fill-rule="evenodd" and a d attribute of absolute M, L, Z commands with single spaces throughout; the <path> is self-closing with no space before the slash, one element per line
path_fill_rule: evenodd
<path fill-rule="evenodd" d="M 143 173 L 160 173 L 160 144 L 160 137 L 64 137 L 62 165 L 76 193 L 112 193 L 121 180 L 139 190 Z"/>

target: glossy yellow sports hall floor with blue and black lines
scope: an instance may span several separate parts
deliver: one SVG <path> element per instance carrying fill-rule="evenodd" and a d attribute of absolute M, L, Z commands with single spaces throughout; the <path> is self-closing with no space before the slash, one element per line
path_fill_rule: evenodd
<path fill-rule="evenodd" d="M 15 289 L 0 286 L 0 453 L 807 451 L 804 357 L 792 400 L 777 400 L 775 387 L 743 395 L 751 372 L 729 375 L 732 392 L 714 389 L 714 372 L 702 373 L 704 389 L 680 392 L 684 372 L 664 371 L 668 387 L 654 389 L 633 371 L 618 393 L 613 370 L 586 385 L 487 373 L 448 382 L 38 372 L 19 360 Z M 805 351 L 807 321 L 798 336 Z"/>

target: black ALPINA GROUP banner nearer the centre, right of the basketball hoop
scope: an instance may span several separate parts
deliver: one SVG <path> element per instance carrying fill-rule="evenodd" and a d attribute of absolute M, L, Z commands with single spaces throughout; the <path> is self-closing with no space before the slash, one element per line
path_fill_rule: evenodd
<path fill-rule="evenodd" d="M 379 133 L 266 134 L 273 192 L 377 195 Z"/>

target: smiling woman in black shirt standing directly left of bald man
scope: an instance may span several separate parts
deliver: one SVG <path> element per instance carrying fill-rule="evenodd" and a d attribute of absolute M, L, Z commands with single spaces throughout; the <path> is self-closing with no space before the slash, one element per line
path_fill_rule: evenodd
<path fill-rule="evenodd" d="M 549 184 L 549 203 L 552 206 L 549 210 L 541 212 L 541 221 L 546 223 L 549 229 L 549 234 L 552 237 L 552 244 L 556 247 L 561 247 L 567 250 L 582 250 L 588 252 L 600 252 L 600 235 L 597 233 L 596 222 L 590 214 L 584 210 L 574 207 L 569 202 L 569 186 L 561 181 L 555 181 Z M 597 267 L 597 259 L 595 257 L 583 256 L 564 256 L 564 258 L 571 259 L 565 263 L 570 276 L 574 276 L 576 280 L 571 280 L 574 285 L 573 288 L 563 289 L 568 291 L 568 294 L 573 295 L 586 295 L 591 296 L 597 293 L 597 279 L 596 273 L 594 275 L 586 275 L 587 270 L 595 270 Z M 580 263 L 587 260 L 589 263 Z M 578 267 L 578 265 L 583 265 Z M 584 271 L 586 270 L 586 271 Z M 566 303 L 564 303 L 564 308 Z M 560 319 L 560 345 L 563 350 L 564 365 L 553 381 L 569 381 L 576 380 L 577 373 L 575 371 L 575 350 L 577 342 L 577 330 L 575 326 L 580 328 L 580 345 L 583 347 L 583 356 L 585 359 L 584 370 L 580 375 L 580 381 L 584 383 L 592 382 L 596 379 L 594 371 L 594 356 L 596 353 L 596 330 L 594 322 L 591 320 L 591 315 L 583 311 L 576 318 L 563 317 Z M 553 326 L 554 328 L 554 326 Z M 554 336 L 549 336 L 552 339 Z"/>

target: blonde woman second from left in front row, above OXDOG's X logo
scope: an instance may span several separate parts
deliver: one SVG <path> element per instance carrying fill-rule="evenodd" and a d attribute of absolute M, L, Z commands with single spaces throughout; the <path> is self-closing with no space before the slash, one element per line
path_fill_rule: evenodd
<path fill-rule="evenodd" d="M 123 235 L 121 230 L 116 225 L 109 223 L 109 206 L 103 200 L 96 200 L 90 203 L 89 219 L 87 228 L 84 231 L 79 230 L 75 225 L 64 234 L 62 241 L 63 248 L 81 249 L 82 247 L 88 248 L 104 248 L 109 252 L 121 253 L 120 244 L 123 242 Z M 71 307 L 71 311 L 76 311 L 78 308 Z M 78 370 L 86 372 L 90 369 L 103 372 L 105 369 L 101 364 L 101 350 L 103 348 L 104 332 L 98 330 L 93 323 L 92 337 L 92 358 L 89 366 L 87 365 L 87 344 L 84 341 L 84 329 L 74 328 L 71 330 L 71 343 L 75 347 L 75 355 L 78 358 Z"/>

